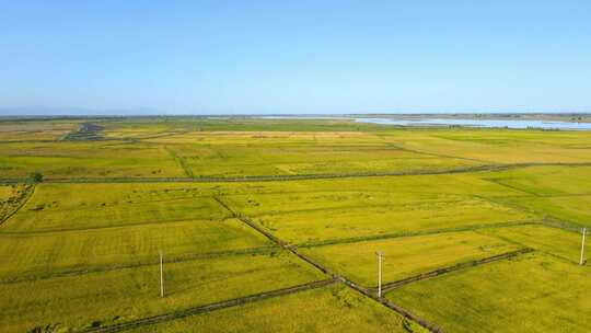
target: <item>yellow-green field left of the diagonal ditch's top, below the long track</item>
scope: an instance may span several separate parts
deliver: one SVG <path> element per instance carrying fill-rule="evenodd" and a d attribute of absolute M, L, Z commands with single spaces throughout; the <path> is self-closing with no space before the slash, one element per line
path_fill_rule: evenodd
<path fill-rule="evenodd" d="M 136 188 L 149 188 L 150 197 L 136 197 Z M 212 197 L 199 196 L 190 186 L 154 184 L 143 187 L 125 184 L 42 184 L 33 197 L 13 216 L 4 231 L 38 232 L 85 230 L 177 221 L 223 220 L 229 213 Z M 167 192 L 174 194 L 167 195 Z M 159 194 L 162 192 L 162 194 Z M 148 194 L 149 195 L 149 194 Z"/>

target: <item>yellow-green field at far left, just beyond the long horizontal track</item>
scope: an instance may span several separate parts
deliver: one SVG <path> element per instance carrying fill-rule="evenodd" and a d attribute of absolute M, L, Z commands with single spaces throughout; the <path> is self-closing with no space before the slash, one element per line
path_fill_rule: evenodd
<path fill-rule="evenodd" d="M 124 141 L 2 143 L 0 170 L 3 177 L 40 172 L 48 180 L 184 176 L 163 147 Z"/>

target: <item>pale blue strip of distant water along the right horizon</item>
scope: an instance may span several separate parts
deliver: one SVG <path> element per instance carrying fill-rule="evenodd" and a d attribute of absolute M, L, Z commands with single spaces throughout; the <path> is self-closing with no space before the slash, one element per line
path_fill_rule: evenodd
<path fill-rule="evenodd" d="M 380 125 L 397 126 L 467 126 L 485 128 L 543 128 L 543 129 L 576 129 L 591 130 L 591 123 L 570 123 L 570 122 L 545 122 L 545 120 L 498 120 L 498 119 L 436 119 L 426 118 L 418 120 L 401 120 L 390 118 L 355 118 L 357 123 L 369 123 Z"/>

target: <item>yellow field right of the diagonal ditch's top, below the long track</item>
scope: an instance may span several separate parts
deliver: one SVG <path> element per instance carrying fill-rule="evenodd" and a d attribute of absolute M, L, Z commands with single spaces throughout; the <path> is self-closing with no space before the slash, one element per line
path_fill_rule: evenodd
<path fill-rule="evenodd" d="M 462 200 L 485 204 L 487 198 L 523 196 L 517 190 L 482 179 L 480 175 L 489 173 L 246 183 L 242 186 L 250 186 L 250 191 L 244 193 L 228 190 L 221 190 L 221 193 L 228 195 L 225 199 L 231 206 L 251 217 L 331 208 L 404 208 Z M 286 200 L 292 205 L 286 205 Z"/>

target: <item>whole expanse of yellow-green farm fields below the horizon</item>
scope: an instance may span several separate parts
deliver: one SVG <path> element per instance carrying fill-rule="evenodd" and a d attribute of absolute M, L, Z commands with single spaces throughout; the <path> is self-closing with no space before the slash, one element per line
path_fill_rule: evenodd
<path fill-rule="evenodd" d="M 2 119 L 0 331 L 587 332 L 590 180 L 588 131 Z"/>

